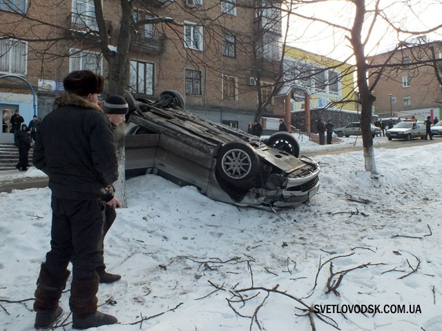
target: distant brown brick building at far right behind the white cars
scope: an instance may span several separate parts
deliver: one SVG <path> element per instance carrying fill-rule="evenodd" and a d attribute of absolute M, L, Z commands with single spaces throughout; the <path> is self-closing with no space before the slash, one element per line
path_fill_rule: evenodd
<path fill-rule="evenodd" d="M 435 61 L 433 61 L 435 60 Z M 438 63 L 441 74 L 442 42 L 403 44 L 398 50 L 376 54 L 369 58 L 372 68 L 369 80 L 372 82 L 379 68 L 381 79 L 374 88 L 374 112 L 379 117 L 402 117 L 423 121 L 427 116 L 441 118 L 442 89 L 433 63 Z M 387 65 L 392 65 L 388 68 Z"/>

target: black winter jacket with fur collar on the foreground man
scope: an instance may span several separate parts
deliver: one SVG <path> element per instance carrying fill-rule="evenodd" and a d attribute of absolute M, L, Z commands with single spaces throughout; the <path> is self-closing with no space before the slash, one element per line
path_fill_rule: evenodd
<path fill-rule="evenodd" d="M 95 103 L 61 93 L 36 132 L 32 162 L 48 174 L 53 196 L 104 199 L 118 179 L 111 122 Z"/>

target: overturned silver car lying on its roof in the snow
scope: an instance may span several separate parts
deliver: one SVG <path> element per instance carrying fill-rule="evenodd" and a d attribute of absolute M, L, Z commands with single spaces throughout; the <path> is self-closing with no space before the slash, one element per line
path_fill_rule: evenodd
<path fill-rule="evenodd" d="M 239 206 L 292 208 L 318 191 L 320 167 L 299 157 L 288 132 L 266 141 L 184 110 L 176 91 L 160 99 L 131 99 L 126 170 L 194 185 L 207 197 Z"/>

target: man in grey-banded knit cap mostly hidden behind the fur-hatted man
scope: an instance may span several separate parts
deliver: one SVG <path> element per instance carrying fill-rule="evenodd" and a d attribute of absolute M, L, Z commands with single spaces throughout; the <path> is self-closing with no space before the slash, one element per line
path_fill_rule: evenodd
<path fill-rule="evenodd" d="M 128 110 L 129 106 L 126 103 L 126 100 L 119 95 L 112 95 L 111 97 L 108 97 L 103 103 L 103 111 L 107 115 L 109 121 L 111 121 L 114 129 L 116 129 L 120 123 L 124 122 Z M 106 233 L 117 218 L 117 212 L 115 212 L 115 208 L 120 208 L 122 206 L 122 204 L 113 196 L 113 194 L 114 190 L 112 187 L 108 190 L 106 197 L 104 198 L 104 200 L 106 201 L 106 218 L 104 221 L 103 240 L 106 236 Z M 99 265 L 99 267 L 97 268 L 97 272 L 99 275 L 100 283 L 113 283 L 122 278 L 119 274 L 111 274 L 109 272 L 106 272 L 106 264 L 104 263 L 104 260 L 102 265 Z"/>

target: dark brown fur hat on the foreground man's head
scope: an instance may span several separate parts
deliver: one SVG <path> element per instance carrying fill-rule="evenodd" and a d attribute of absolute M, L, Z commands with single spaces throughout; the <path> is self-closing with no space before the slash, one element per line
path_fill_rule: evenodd
<path fill-rule="evenodd" d="M 86 97 L 103 92 L 104 78 L 90 70 L 75 70 L 66 76 L 63 85 L 64 90 Z"/>

